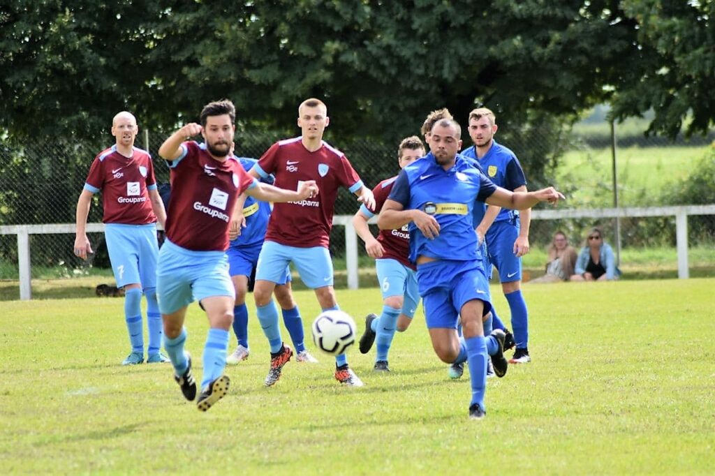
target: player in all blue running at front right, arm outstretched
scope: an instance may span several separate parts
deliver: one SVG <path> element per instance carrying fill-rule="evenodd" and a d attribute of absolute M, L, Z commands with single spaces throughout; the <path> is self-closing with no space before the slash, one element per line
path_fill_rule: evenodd
<path fill-rule="evenodd" d="M 489 283 L 477 246 L 472 212 L 475 202 L 511 209 L 563 198 L 553 187 L 538 192 L 510 192 L 496 187 L 458 155 L 459 124 L 437 122 L 430 134 L 430 154 L 405 167 L 378 217 L 380 229 L 410 225 L 410 260 L 417 279 L 425 319 L 435 353 L 447 363 L 466 361 L 472 397 L 469 416 L 485 416 L 486 368 L 491 355 L 497 375 L 508 363 L 503 356 L 503 332 L 484 336 L 483 318 L 490 304 Z M 461 316 L 464 339 L 457 334 Z"/>

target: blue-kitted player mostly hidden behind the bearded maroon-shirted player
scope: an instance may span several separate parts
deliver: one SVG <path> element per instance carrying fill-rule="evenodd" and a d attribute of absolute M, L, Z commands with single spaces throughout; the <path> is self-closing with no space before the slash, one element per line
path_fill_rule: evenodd
<path fill-rule="evenodd" d="M 246 172 L 250 171 L 258 162 L 256 159 L 249 159 L 248 157 L 239 157 L 238 161 Z M 265 179 L 261 180 L 264 181 Z M 267 181 L 267 183 L 272 182 L 272 179 Z M 235 239 L 231 240 L 226 252 L 229 274 L 236 289 L 236 302 L 233 308 L 233 331 L 238 341 L 236 350 L 226 358 L 226 363 L 230 365 L 235 365 L 247 359 L 250 353 L 248 347 L 246 294 L 248 292 L 248 280 L 258 263 L 258 255 L 265 239 L 270 212 L 271 207 L 267 202 L 260 202 L 253 197 L 247 197 L 243 204 L 243 220 L 236 230 L 239 234 Z M 317 359 L 305 348 L 303 321 L 290 287 L 290 268 L 286 267 L 285 274 L 278 279 L 274 294 L 283 314 L 283 323 L 285 328 L 288 329 L 295 352 L 297 352 L 295 360 L 297 362 L 317 362 Z"/>

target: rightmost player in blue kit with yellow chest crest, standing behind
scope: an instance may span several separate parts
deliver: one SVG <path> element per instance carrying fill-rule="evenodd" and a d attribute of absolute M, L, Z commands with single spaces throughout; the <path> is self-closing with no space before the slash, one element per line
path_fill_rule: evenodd
<path fill-rule="evenodd" d="M 498 127 L 494 113 L 485 107 L 469 113 L 469 135 L 474 145 L 462 154 L 477 159 L 487 176 L 513 192 L 526 192 L 526 177 L 516 155 L 494 140 Z M 529 252 L 531 209 L 521 213 L 488 207 L 477 226 L 485 237 L 490 261 L 499 272 L 502 291 L 511 310 L 511 327 L 516 350 L 512 364 L 531 362 L 528 350 L 528 311 L 521 294 L 521 257 Z"/>

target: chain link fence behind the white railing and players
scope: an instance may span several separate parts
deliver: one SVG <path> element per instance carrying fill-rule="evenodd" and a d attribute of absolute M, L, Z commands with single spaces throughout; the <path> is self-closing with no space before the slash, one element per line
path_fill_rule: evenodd
<path fill-rule="evenodd" d="M 603 125 L 603 124 L 601 124 Z M 598 134 L 558 133 L 558 137 L 539 137 L 536 130 L 503 132 L 497 139 L 520 157 L 527 178 L 530 169 L 543 173 L 531 180 L 531 189 L 553 184 L 568 199 L 560 207 L 593 209 L 614 206 L 613 138 L 608 127 Z M 604 134 L 603 131 L 606 131 Z M 616 130 L 618 134 L 618 130 Z M 157 182 L 166 183 L 169 169 L 159 160 L 157 149 L 166 135 L 139 134 L 137 147 L 146 148 L 154 157 Z M 243 132 L 237 134 L 236 154 L 261 156 L 279 134 Z M 370 187 L 398 172 L 397 146 L 370 140 L 341 141 L 326 138 L 350 158 L 353 166 Z M 469 142 L 465 137 L 465 143 Z M 661 207 L 666 205 L 715 204 L 715 137 L 694 138 L 675 143 L 661 138 L 626 132 L 616 137 L 616 189 L 619 207 Z M 82 191 L 92 159 L 111 146 L 107 135 L 97 142 L 72 142 L 52 139 L 31 144 L 14 144 L 0 139 L 0 226 L 19 224 L 74 223 L 77 198 Z M 557 167 L 558 165 L 558 167 Z M 698 177 L 702 180 L 699 181 Z M 341 191 L 336 214 L 354 214 L 355 197 Z M 101 194 L 94 197 L 88 222 L 101 222 Z M 548 219 L 531 224 L 532 252 L 525 257 L 525 268 L 533 275 L 543 272 L 546 247 L 556 230 L 563 230 L 575 247 L 583 246 L 588 229 L 598 225 L 607 241 L 620 241 L 621 269 L 625 277 L 674 277 L 676 275 L 676 227 L 671 216 L 616 220 Z M 715 275 L 715 216 L 691 216 L 689 248 L 691 276 Z M 377 229 L 373 231 L 376 233 Z M 101 233 L 89 234 L 94 255 L 88 262 L 74 257 L 74 234 L 32 234 L 30 236 L 31 276 L 56 279 L 98 274 L 97 282 L 113 282 L 109 258 Z M 334 227 L 331 253 L 340 283 L 345 267 L 345 231 Z M 360 267 L 373 269 L 373 263 L 359 242 Z M 0 280 L 18 279 L 18 249 L 14 234 L 0 234 Z M 374 281 L 368 279 L 367 283 Z M 16 295 L 16 294 L 15 294 Z"/>

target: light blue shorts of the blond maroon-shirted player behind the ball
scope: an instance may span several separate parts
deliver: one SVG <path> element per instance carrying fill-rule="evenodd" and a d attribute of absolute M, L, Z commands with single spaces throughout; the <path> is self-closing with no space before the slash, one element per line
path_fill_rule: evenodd
<path fill-rule="evenodd" d="M 280 284 L 285 267 L 293 263 L 300 279 L 310 289 L 332 286 L 332 260 L 324 247 L 289 247 L 276 242 L 263 242 L 256 267 L 256 280 Z"/>

